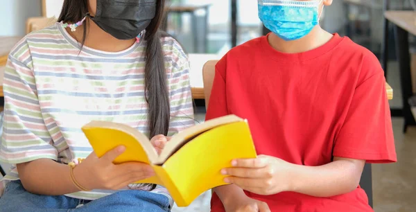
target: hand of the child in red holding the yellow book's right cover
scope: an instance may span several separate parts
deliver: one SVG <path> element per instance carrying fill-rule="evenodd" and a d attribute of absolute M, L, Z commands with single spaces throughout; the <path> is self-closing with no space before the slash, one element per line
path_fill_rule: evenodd
<path fill-rule="evenodd" d="M 260 155 L 257 159 L 236 159 L 232 166 L 221 170 L 223 175 L 230 175 L 224 181 L 245 191 L 259 195 L 290 191 L 293 164 L 282 159 Z"/>

